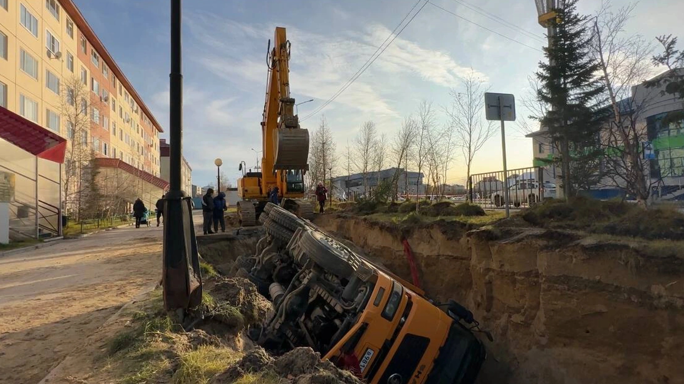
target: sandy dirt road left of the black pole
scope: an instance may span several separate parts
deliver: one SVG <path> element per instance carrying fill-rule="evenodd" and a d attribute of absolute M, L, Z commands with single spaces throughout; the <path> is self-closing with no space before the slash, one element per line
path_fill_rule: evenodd
<path fill-rule="evenodd" d="M 0 258 L 0 383 L 38 383 L 159 282 L 161 229 L 118 228 Z"/>

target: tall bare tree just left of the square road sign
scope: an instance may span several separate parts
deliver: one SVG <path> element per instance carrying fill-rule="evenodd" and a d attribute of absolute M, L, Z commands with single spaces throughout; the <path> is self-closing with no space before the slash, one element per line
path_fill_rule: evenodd
<path fill-rule="evenodd" d="M 475 154 L 496 133 L 491 122 L 482 120 L 484 93 L 487 90 L 488 88 L 484 87 L 484 81 L 471 71 L 462 79 L 462 92 L 458 90 L 449 92 L 453 100 L 447 114 L 466 163 L 466 180 L 470 180 Z"/>

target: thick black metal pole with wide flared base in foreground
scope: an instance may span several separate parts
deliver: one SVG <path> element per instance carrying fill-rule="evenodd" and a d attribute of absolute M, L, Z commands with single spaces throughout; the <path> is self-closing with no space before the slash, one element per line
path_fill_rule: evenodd
<path fill-rule="evenodd" d="M 183 74 L 181 66 L 181 0 L 171 0 L 171 74 L 169 96 L 169 191 L 164 197 L 164 308 L 183 324 L 186 310 L 202 302 L 202 276 L 190 197 L 181 190 L 183 158 Z"/>

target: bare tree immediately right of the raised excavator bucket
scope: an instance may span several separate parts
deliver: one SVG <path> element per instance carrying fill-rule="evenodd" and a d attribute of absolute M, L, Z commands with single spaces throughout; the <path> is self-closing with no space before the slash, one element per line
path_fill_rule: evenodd
<path fill-rule="evenodd" d="M 321 116 L 321 122 L 313 134 L 311 139 L 311 146 L 308 154 L 308 182 L 309 190 L 313 189 L 316 182 L 326 182 L 330 176 L 326 174 L 328 169 L 334 168 L 333 164 L 337 163 L 337 145 L 332 138 L 332 131 L 328 126 L 328 121 L 325 116 Z M 330 186 L 330 193 L 332 193 L 332 186 Z"/>

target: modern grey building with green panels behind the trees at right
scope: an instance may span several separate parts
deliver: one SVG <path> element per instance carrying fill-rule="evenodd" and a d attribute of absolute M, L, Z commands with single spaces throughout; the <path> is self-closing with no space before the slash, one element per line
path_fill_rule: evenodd
<path fill-rule="evenodd" d="M 684 68 L 674 69 L 682 74 Z M 671 71 L 659 74 L 667 76 Z M 620 100 L 622 115 L 633 118 L 636 131 L 643 137 L 642 156 L 647 160 L 646 182 L 654 186 L 652 197 L 663 200 L 684 198 L 684 100 L 663 87 L 646 87 L 640 83 L 631 88 L 631 96 Z M 630 122 L 629 124 L 632 124 Z M 605 129 L 607 132 L 608 128 Z M 602 140 L 609 136 L 602 134 Z M 534 166 L 543 167 L 544 180 L 555 180 L 560 185 L 560 167 L 551 164 L 558 151 L 551 143 L 547 127 L 527 135 L 532 139 Z M 602 165 L 603 167 L 603 165 Z M 624 195 L 624 185 L 605 178 L 590 191 L 595 197 L 608 198 Z M 559 193 L 562 189 L 557 190 Z"/>

